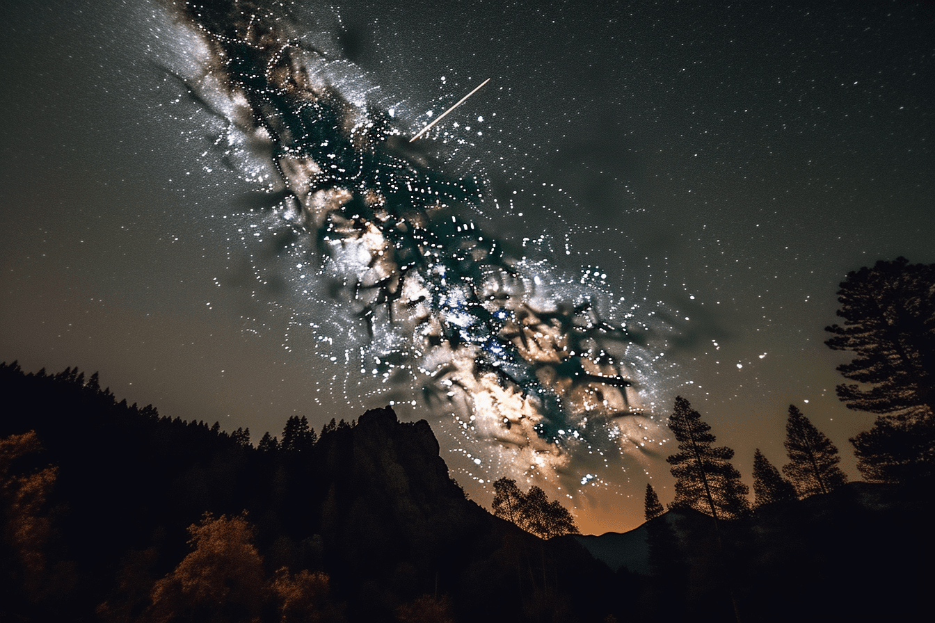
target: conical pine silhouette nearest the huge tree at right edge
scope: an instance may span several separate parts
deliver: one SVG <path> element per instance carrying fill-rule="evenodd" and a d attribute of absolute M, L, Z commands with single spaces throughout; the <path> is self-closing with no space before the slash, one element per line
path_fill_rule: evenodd
<path fill-rule="evenodd" d="M 841 462 L 838 448 L 795 404 L 789 405 L 784 445 L 789 462 L 784 465 L 783 474 L 792 481 L 799 498 L 827 493 L 847 482 L 847 476 L 838 467 Z"/>

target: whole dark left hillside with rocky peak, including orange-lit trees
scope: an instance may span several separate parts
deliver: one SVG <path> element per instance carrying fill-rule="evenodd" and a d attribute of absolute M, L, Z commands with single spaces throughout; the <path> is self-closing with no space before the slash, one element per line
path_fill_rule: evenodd
<path fill-rule="evenodd" d="M 629 573 L 470 502 L 424 420 L 375 409 L 315 433 L 295 417 L 253 447 L 246 430 L 117 402 L 73 369 L 0 365 L 0 395 L 0 620 L 620 610 L 610 595 Z"/>

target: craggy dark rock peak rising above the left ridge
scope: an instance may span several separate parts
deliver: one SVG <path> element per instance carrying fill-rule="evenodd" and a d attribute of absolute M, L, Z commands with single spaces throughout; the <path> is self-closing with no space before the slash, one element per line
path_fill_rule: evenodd
<path fill-rule="evenodd" d="M 324 435 L 315 453 L 327 566 L 357 581 L 392 576 L 405 563 L 433 592 L 436 576 L 462 556 L 453 551 L 459 543 L 495 526 L 509 530 L 451 480 L 424 420 L 400 423 L 392 409 L 370 410 L 353 428 Z"/>

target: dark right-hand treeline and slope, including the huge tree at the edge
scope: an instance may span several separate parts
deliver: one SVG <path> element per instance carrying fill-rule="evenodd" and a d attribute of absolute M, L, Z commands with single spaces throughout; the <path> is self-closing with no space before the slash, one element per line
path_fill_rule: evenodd
<path fill-rule="evenodd" d="M 669 514 L 647 484 L 652 577 L 646 613 L 687 620 L 909 620 L 926 608 L 935 539 L 935 264 L 904 258 L 849 273 L 843 324 L 827 346 L 849 350 L 839 372 L 849 408 L 878 414 L 850 441 L 869 488 L 847 478 L 827 436 L 789 406 L 780 471 L 756 449 L 754 500 L 715 446 L 711 426 L 677 397 L 669 428 L 678 451 Z M 920 570 L 927 571 L 921 572 Z M 866 586 L 874 596 L 853 597 Z M 886 599 L 876 597 L 886 595 Z"/>

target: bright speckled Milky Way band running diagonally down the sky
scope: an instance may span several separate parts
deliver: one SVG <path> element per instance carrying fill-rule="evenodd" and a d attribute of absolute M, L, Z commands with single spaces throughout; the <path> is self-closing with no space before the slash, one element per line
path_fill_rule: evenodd
<path fill-rule="evenodd" d="M 410 146 L 426 119 L 374 102 L 297 5 L 178 4 L 199 69 L 175 78 L 220 120 L 223 161 L 262 191 L 237 234 L 275 248 L 287 348 L 313 333 L 346 364 L 345 391 L 368 375 L 391 404 L 427 408 L 481 485 L 510 475 L 573 497 L 658 453 L 669 327 L 615 296 L 597 266 L 559 268 L 567 232 L 482 229 L 519 209 L 482 168 L 451 172 L 482 129 L 446 121 Z"/>

